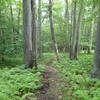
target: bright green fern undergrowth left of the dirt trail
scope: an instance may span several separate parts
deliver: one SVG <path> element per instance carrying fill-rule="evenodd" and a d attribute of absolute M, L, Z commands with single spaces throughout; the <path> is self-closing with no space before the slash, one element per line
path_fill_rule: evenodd
<path fill-rule="evenodd" d="M 35 100 L 44 69 L 43 65 L 38 67 L 37 71 L 24 69 L 24 65 L 0 69 L 0 100 Z"/>

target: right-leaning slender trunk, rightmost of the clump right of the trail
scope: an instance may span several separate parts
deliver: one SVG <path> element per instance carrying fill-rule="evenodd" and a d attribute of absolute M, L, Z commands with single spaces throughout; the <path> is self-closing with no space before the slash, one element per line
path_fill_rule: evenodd
<path fill-rule="evenodd" d="M 80 4 L 80 11 L 77 20 L 77 28 L 76 28 L 76 46 L 75 46 L 75 58 L 78 58 L 79 54 L 79 44 L 80 44 L 80 27 L 81 27 L 81 19 L 82 19 L 82 9 L 83 9 L 83 2 L 81 1 Z"/>

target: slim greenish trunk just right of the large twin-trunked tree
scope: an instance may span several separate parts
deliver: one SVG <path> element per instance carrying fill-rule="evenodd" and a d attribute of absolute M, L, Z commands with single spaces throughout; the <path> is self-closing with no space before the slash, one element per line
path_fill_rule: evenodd
<path fill-rule="evenodd" d="M 42 54 L 42 41 L 41 41 L 41 0 L 38 0 L 38 51 L 39 51 L 39 57 L 41 57 Z"/>

